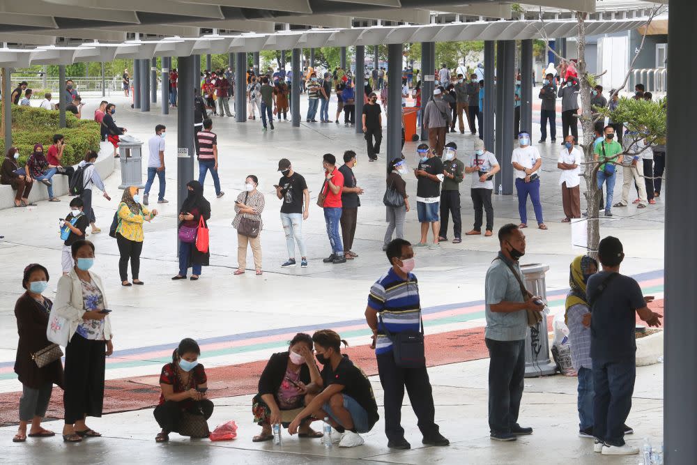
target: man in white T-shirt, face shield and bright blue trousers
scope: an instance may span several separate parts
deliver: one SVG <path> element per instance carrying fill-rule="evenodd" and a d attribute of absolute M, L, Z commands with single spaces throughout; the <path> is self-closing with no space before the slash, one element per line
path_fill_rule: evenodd
<path fill-rule="evenodd" d="M 547 229 L 542 219 L 542 204 L 539 202 L 539 168 L 542 157 L 537 148 L 530 146 L 530 133 L 521 132 L 518 136 L 520 147 L 514 148 L 511 157 L 516 175 L 516 192 L 518 192 L 518 213 L 521 217 L 520 228 L 528 227 L 528 195 L 533 201 L 535 219 L 539 229 Z"/>

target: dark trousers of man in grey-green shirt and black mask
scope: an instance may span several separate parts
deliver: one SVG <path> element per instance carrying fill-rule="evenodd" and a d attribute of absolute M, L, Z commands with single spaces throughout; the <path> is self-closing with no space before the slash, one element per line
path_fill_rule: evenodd
<path fill-rule="evenodd" d="M 486 338 L 489 349 L 489 429 L 510 433 L 518 423 L 525 377 L 525 340 Z"/>

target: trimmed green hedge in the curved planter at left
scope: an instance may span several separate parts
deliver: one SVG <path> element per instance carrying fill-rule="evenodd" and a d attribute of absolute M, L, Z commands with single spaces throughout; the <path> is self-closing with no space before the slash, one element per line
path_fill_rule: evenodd
<path fill-rule="evenodd" d="M 13 105 L 12 140 L 13 146 L 20 149 L 20 162 L 26 162 L 36 143 L 43 144 L 46 153 L 54 134 L 66 137 L 63 165 L 77 164 L 88 150 L 99 151 L 100 128 L 95 121 L 77 119 L 68 112 L 66 128 L 59 128 L 58 110 Z M 0 140 L 0 151 L 3 155 L 6 152 L 4 140 Z"/>

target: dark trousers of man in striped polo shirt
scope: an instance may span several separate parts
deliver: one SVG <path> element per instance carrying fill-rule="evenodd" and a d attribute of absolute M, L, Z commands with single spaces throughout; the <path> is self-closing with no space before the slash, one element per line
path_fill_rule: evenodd
<path fill-rule="evenodd" d="M 438 434 L 436 425 L 436 407 L 433 390 L 426 367 L 403 368 L 395 364 L 392 351 L 379 353 L 378 375 L 385 392 L 385 436 L 389 441 L 404 439 L 401 427 L 401 402 L 404 400 L 404 388 L 409 395 L 411 408 L 418 418 L 418 427 L 424 438 Z"/>

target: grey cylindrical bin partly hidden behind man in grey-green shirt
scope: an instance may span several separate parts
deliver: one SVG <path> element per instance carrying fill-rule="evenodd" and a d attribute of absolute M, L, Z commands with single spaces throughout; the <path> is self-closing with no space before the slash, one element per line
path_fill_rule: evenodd
<path fill-rule="evenodd" d="M 544 273 L 548 265 L 521 265 L 525 287 L 533 296 L 539 296 L 547 302 L 547 291 L 544 284 Z M 554 374 L 557 365 L 549 359 L 549 338 L 547 337 L 547 315 L 542 313 L 542 321 L 528 328 L 525 338 L 525 377 L 532 378 Z"/>

